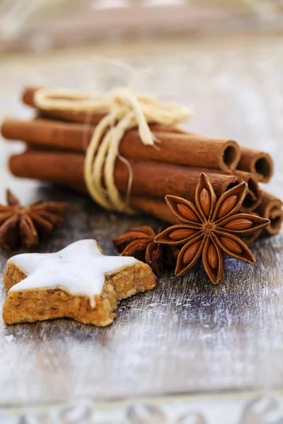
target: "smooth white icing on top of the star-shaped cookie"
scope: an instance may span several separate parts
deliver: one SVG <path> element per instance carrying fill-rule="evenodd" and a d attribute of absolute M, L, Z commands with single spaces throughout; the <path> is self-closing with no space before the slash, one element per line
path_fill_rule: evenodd
<path fill-rule="evenodd" d="M 91 307 L 93 298 L 103 290 L 105 273 L 112 273 L 137 262 L 133 257 L 105 256 L 96 240 L 80 240 L 57 253 L 17 254 L 8 264 L 18 266 L 27 275 L 9 291 L 38 288 L 62 288 L 72 295 L 86 295 Z"/>

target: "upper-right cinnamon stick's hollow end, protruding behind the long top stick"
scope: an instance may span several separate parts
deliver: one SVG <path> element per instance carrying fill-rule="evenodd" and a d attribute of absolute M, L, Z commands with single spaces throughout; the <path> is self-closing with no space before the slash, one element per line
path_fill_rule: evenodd
<path fill-rule="evenodd" d="M 269 182 L 273 175 L 273 160 L 268 153 L 241 146 L 238 170 L 252 172 L 258 181 Z"/>

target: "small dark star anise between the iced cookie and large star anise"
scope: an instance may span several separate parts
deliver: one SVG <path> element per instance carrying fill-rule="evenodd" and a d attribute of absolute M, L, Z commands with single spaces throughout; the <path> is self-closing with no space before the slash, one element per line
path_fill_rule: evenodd
<path fill-rule="evenodd" d="M 161 232 L 161 228 L 157 234 Z M 131 228 L 120 237 L 113 239 L 113 245 L 121 256 L 133 256 L 151 266 L 156 276 L 163 272 L 168 266 L 175 266 L 178 249 L 174 246 L 161 246 L 154 241 L 156 233 L 146 225 Z"/>

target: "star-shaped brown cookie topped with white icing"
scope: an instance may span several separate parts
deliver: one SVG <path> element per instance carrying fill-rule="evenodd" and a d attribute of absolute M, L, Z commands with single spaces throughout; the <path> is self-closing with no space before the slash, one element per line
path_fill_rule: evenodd
<path fill-rule="evenodd" d="M 133 257 L 108 257 L 96 240 L 81 240 L 57 253 L 12 257 L 4 283 L 6 324 L 69 317 L 106 326 L 119 300 L 151 290 L 156 277 Z"/>

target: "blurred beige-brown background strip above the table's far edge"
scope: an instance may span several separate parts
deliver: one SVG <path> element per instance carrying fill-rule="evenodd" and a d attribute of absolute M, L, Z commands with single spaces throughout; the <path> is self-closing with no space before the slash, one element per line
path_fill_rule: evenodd
<path fill-rule="evenodd" d="M 282 0 L 0 0 L 0 52 L 278 30 Z"/>

